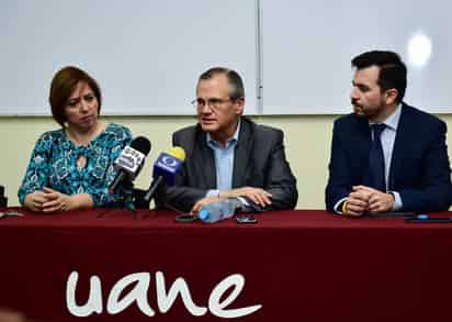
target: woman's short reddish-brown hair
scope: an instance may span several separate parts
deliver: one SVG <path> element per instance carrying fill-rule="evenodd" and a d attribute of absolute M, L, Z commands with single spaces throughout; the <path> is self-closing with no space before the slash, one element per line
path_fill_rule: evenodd
<path fill-rule="evenodd" d="M 99 102 L 98 112 L 101 111 L 102 97 L 98 82 L 89 76 L 87 71 L 78 67 L 66 66 L 55 74 L 50 85 L 50 93 L 48 96 L 48 101 L 52 107 L 52 115 L 61 126 L 65 126 L 66 122 L 66 104 L 68 103 L 70 95 L 76 89 L 77 84 L 80 81 L 87 82 L 92 89 Z"/>

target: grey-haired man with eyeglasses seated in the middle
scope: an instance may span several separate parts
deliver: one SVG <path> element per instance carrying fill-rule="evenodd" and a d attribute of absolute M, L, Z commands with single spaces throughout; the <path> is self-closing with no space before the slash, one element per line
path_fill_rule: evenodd
<path fill-rule="evenodd" d="M 172 136 L 173 145 L 185 149 L 187 160 L 176 186 L 168 188 L 167 203 L 193 214 L 226 198 L 263 210 L 293 209 L 298 195 L 283 132 L 242 116 L 240 76 L 223 67 L 203 73 L 193 106 L 199 123 Z"/>

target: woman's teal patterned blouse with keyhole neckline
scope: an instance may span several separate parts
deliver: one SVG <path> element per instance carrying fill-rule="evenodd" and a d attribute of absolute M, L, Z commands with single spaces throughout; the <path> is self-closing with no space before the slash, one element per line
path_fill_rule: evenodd
<path fill-rule="evenodd" d="M 71 196 L 89 193 L 94 207 L 125 207 L 132 197 L 123 189 L 109 193 L 109 185 L 116 176 L 114 160 L 132 141 L 128 129 L 110 123 L 88 146 L 76 146 L 64 130 L 49 131 L 41 135 L 19 189 L 23 204 L 25 196 L 49 187 Z M 80 156 L 87 158 L 86 166 L 77 166 Z"/>

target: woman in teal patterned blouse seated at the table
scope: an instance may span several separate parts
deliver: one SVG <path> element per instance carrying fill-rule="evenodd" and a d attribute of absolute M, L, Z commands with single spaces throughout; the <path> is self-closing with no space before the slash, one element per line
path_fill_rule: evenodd
<path fill-rule="evenodd" d="M 97 81 L 77 67 L 65 67 L 52 80 L 49 102 L 61 129 L 37 140 L 19 189 L 22 206 L 36 212 L 123 207 L 127 195 L 122 189 L 110 195 L 108 187 L 116 175 L 113 163 L 132 134 L 99 119 Z"/>

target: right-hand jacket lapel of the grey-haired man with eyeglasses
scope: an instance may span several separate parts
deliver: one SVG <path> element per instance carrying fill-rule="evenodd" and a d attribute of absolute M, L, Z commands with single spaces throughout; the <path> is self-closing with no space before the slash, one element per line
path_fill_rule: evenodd
<path fill-rule="evenodd" d="M 252 123 L 241 118 L 240 132 L 234 154 L 233 188 L 246 186 L 246 175 L 252 152 Z"/>

